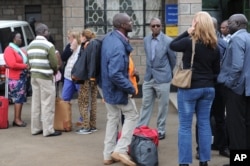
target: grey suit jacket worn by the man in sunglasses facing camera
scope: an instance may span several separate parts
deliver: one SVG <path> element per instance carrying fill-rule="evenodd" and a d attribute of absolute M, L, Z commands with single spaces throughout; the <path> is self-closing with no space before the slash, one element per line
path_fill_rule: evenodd
<path fill-rule="evenodd" d="M 157 39 L 159 40 L 159 45 L 156 48 L 155 58 L 152 61 L 150 44 L 152 35 L 144 38 L 144 49 L 147 59 L 144 80 L 149 81 L 154 78 L 156 83 L 167 83 L 172 80 L 173 69 L 176 65 L 176 54 L 169 48 L 172 38 L 161 32 Z"/>

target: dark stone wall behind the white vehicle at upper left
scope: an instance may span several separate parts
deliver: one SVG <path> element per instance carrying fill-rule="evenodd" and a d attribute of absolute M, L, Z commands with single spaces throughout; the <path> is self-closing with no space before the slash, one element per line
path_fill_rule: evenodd
<path fill-rule="evenodd" d="M 41 20 L 48 25 L 58 50 L 63 49 L 61 0 L 0 0 L 1 20 L 25 20 L 25 5 L 41 5 Z M 26 20 L 28 21 L 28 20 Z"/>

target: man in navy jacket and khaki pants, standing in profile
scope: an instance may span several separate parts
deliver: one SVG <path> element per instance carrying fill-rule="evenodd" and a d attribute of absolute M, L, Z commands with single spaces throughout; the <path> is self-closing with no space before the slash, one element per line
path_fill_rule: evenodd
<path fill-rule="evenodd" d="M 128 166 L 136 164 L 128 155 L 128 145 L 132 140 L 139 113 L 131 97 L 135 88 L 129 80 L 129 44 L 128 33 L 133 22 L 126 13 L 113 17 L 114 30 L 102 41 L 101 50 L 101 88 L 107 109 L 107 124 L 104 138 L 104 165 L 121 161 Z M 111 44 L 112 43 L 112 44 Z M 117 141 L 121 113 L 125 116 L 121 137 Z"/>

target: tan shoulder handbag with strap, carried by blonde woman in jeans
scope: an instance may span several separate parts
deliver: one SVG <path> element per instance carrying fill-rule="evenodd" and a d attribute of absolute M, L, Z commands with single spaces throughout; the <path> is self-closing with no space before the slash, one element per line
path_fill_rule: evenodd
<path fill-rule="evenodd" d="M 192 39 L 192 57 L 191 57 L 190 68 L 183 69 L 181 65 L 182 63 L 179 63 L 174 73 L 173 79 L 172 79 L 172 85 L 178 88 L 190 88 L 191 87 L 194 54 L 195 54 L 195 41 L 194 39 Z"/>

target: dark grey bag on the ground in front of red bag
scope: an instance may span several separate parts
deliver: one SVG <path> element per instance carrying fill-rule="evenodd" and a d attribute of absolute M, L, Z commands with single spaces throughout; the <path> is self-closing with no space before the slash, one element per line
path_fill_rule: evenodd
<path fill-rule="evenodd" d="M 157 146 L 150 138 L 133 135 L 129 152 L 137 166 L 158 166 Z"/>

